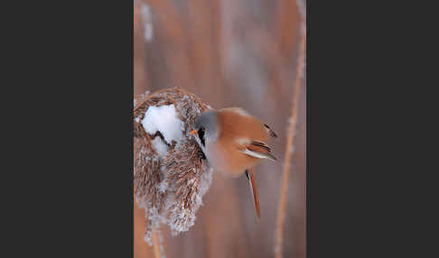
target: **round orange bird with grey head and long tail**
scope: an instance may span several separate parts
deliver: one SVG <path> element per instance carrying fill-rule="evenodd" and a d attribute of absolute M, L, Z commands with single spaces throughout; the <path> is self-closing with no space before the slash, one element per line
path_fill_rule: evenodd
<path fill-rule="evenodd" d="M 276 161 L 267 144 L 276 132 L 241 107 L 209 109 L 195 119 L 193 129 L 190 134 L 214 170 L 232 178 L 246 174 L 260 218 L 254 170 L 262 160 Z"/>

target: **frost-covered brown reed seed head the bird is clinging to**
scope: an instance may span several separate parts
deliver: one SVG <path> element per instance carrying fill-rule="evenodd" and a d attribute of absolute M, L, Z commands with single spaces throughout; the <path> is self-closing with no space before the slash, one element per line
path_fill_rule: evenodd
<path fill-rule="evenodd" d="M 134 109 L 135 198 L 145 208 L 145 241 L 167 225 L 173 235 L 194 225 L 212 170 L 189 134 L 197 116 L 210 109 L 180 88 L 142 96 Z"/>

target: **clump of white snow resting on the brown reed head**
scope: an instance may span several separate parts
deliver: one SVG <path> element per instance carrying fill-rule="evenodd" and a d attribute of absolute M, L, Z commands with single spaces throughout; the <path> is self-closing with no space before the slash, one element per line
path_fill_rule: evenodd
<path fill-rule="evenodd" d="M 172 141 L 179 143 L 182 139 L 184 124 L 178 118 L 178 113 L 173 105 L 150 106 L 146 110 L 142 125 L 148 134 L 155 134 L 159 131 L 163 134 L 166 143 L 172 144 Z"/>

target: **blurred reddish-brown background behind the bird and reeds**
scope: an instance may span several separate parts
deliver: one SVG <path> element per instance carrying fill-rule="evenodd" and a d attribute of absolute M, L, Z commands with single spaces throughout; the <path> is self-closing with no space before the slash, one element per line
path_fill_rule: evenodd
<path fill-rule="evenodd" d="M 135 0 L 134 94 L 185 88 L 214 108 L 241 106 L 279 134 L 278 161 L 257 167 L 261 218 L 245 176 L 215 174 L 195 226 L 171 236 L 173 257 L 273 257 L 287 127 L 294 99 L 301 17 L 295 1 Z M 305 92 L 301 90 L 288 182 L 284 257 L 305 257 Z M 135 257 L 154 257 L 135 207 Z"/>

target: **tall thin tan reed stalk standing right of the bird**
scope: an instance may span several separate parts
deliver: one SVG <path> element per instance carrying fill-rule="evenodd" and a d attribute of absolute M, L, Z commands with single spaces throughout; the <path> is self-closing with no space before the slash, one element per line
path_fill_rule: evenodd
<path fill-rule="evenodd" d="M 299 104 L 301 80 L 304 75 L 305 33 L 306 32 L 303 28 L 301 50 L 299 52 L 299 59 L 298 59 L 299 62 L 297 64 L 297 74 L 295 78 L 294 100 L 293 100 L 293 107 L 291 111 L 291 122 L 288 128 L 288 138 L 286 140 L 286 147 L 285 147 L 284 176 L 282 179 L 281 197 L 279 200 L 279 214 L 277 217 L 277 225 L 276 225 L 276 230 L 277 230 L 276 246 L 275 246 L 276 258 L 282 257 L 282 244 L 284 242 L 286 193 L 288 190 L 288 179 L 290 174 L 290 166 L 291 166 L 292 152 L 293 152 L 292 149 L 294 146 L 295 124 L 297 119 L 297 109 L 299 106 L 298 104 Z"/>

